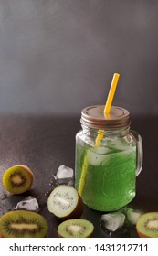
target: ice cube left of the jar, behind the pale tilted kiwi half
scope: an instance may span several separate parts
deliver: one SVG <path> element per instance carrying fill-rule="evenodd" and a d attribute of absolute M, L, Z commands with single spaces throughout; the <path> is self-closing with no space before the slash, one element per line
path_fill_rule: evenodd
<path fill-rule="evenodd" d="M 57 174 L 54 177 L 57 185 L 68 184 L 72 186 L 74 183 L 74 171 L 66 165 L 59 165 Z"/>

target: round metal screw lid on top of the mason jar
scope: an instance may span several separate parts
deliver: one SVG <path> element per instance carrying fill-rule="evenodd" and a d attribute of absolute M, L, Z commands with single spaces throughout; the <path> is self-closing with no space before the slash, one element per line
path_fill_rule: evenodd
<path fill-rule="evenodd" d="M 130 125 L 130 112 L 111 106 L 109 114 L 104 116 L 104 105 L 86 107 L 81 112 L 80 123 L 93 129 L 117 130 Z"/>

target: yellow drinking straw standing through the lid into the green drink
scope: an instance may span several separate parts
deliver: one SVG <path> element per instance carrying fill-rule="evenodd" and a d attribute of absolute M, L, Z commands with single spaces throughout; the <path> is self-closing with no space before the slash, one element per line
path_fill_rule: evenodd
<path fill-rule="evenodd" d="M 113 101 L 113 97 L 114 97 L 114 94 L 115 94 L 115 91 L 116 91 L 116 87 L 117 87 L 117 84 L 118 84 L 119 77 L 120 77 L 120 74 L 114 73 L 113 79 L 111 81 L 111 88 L 110 88 L 108 98 L 107 98 L 105 108 L 104 108 L 104 116 L 106 116 L 106 114 L 108 114 L 111 111 L 111 103 Z M 100 141 L 103 137 L 103 132 L 104 132 L 104 130 L 99 130 L 98 131 L 99 134 L 98 134 L 98 136 L 96 138 L 96 142 L 95 142 L 96 146 L 100 145 Z M 86 177 L 86 173 L 87 173 L 87 168 L 88 168 L 88 161 L 87 161 L 87 157 L 85 156 L 84 163 L 83 163 L 83 166 L 82 166 L 81 176 L 80 176 L 80 179 L 79 179 L 78 192 L 79 192 L 80 196 L 82 194 L 83 187 L 84 187 L 84 184 L 85 184 L 85 177 Z"/>

